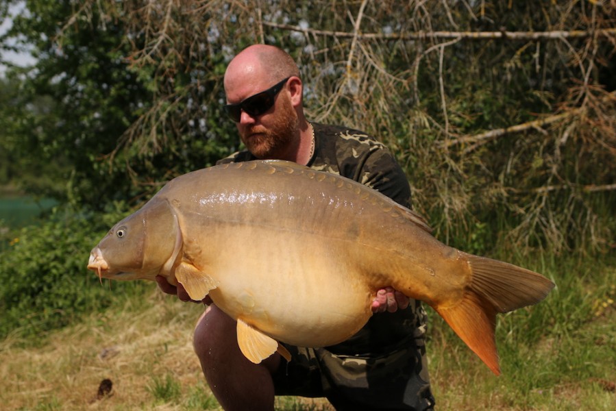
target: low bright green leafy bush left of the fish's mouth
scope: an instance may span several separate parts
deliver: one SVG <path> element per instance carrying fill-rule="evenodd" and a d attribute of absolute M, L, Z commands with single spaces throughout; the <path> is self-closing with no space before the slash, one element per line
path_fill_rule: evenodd
<path fill-rule="evenodd" d="M 110 306 L 114 295 L 143 289 L 136 282 L 114 283 L 110 292 L 86 271 L 90 249 L 123 209 L 116 203 L 101 216 L 55 210 L 46 221 L 12 233 L 0 251 L 0 338 L 40 336 Z"/>

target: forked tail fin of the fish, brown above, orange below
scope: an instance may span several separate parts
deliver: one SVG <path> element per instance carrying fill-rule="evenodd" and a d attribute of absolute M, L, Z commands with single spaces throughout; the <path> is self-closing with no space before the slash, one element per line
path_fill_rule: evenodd
<path fill-rule="evenodd" d="M 554 283 L 506 262 L 467 253 L 461 253 L 461 257 L 468 261 L 472 271 L 465 297 L 456 306 L 435 310 L 489 369 L 500 375 L 494 337 L 496 313 L 538 303 L 554 288 Z"/>

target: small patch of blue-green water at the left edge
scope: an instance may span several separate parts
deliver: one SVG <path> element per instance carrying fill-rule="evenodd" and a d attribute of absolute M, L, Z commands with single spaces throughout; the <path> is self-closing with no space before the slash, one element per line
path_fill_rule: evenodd
<path fill-rule="evenodd" d="M 34 201 L 32 197 L 0 197 L 0 228 L 19 228 L 34 223 L 42 212 L 56 205 L 52 199 Z"/>

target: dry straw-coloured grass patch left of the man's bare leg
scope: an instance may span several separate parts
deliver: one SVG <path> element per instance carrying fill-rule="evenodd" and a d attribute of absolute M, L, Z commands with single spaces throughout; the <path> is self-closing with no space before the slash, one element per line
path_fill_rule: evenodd
<path fill-rule="evenodd" d="M 158 291 L 140 304 L 143 310 L 127 303 L 124 310 L 53 333 L 40 348 L 5 341 L 3 409 L 131 409 L 151 403 L 148 389 L 160 375 L 173 375 L 180 387 L 199 384 L 203 377 L 191 338 L 203 309 Z M 112 391 L 99 400 L 103 379 L 111 380 Z"/>

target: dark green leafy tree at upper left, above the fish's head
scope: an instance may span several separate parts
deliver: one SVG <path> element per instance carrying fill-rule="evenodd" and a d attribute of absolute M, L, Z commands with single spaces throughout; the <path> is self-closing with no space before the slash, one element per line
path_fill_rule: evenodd
<path fill-rule="evenodd" d="M 130 66 L 139 40 L 127 34 L 121 12 L 73 1 L 26 5 L 5 41 L 22 38 L 36 57 L 32 68 L 8 73 L 19 84 L 11 103 L 19 111 L 11 116 L 27 170 L 19 180 L 28 192 L 100 209 L 114 199 L 147 195 L 228 152 L 216 138 L 204 138 L 198 119 L 177 123 L 187 107 L 201 107 L 206 82 L 199 80 L 188 100 L 183 89 L 195 82 L 193 73 L 161 80 L 147 66 Z M 167 94 L 158 98 L 160 88 Z M 145 136 L 155 137 L 134 142 L 140 123 L 151 127 Z"/>

